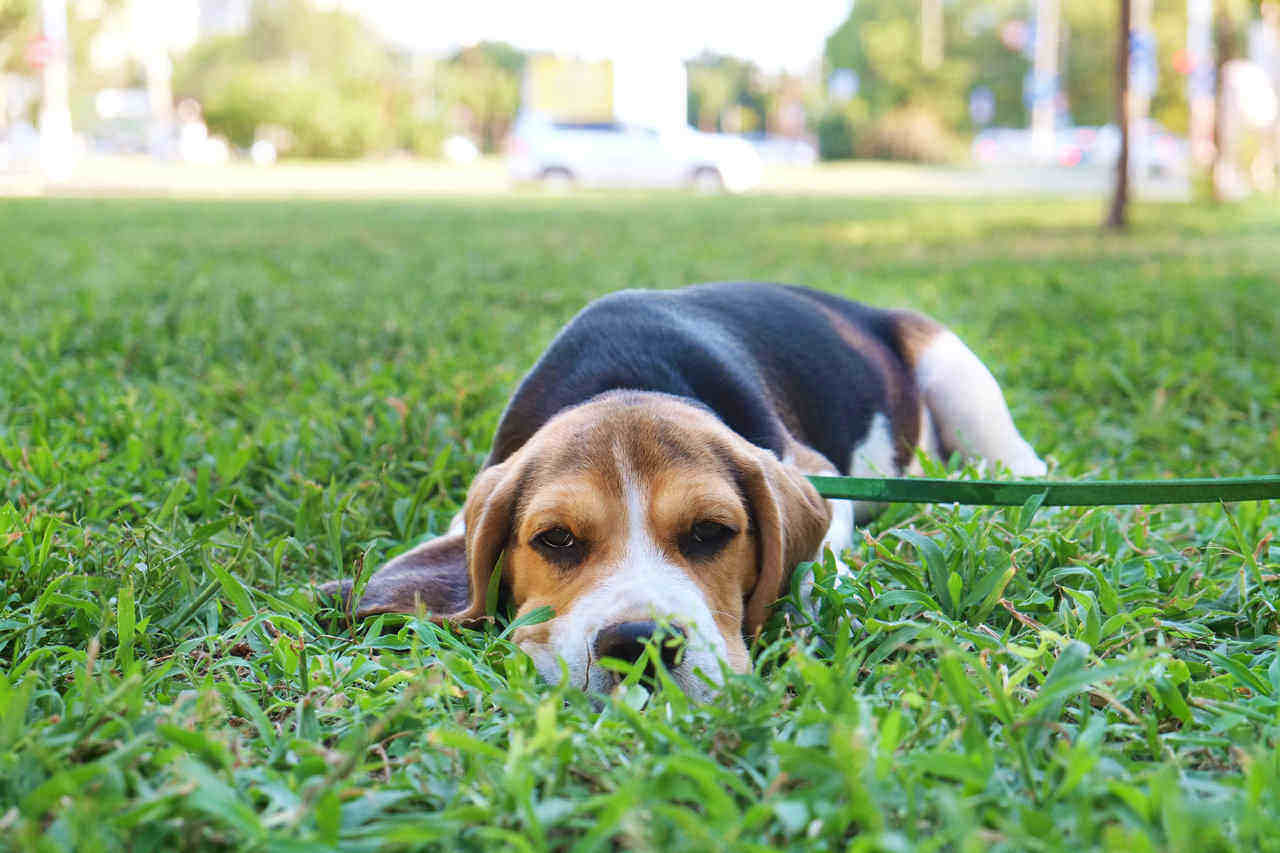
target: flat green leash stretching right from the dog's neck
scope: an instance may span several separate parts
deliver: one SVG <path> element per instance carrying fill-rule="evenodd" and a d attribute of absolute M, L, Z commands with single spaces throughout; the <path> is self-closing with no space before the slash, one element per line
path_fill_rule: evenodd
<path fill-rule="evenodd" d="M 925 478 L 810 476 L 826 498 L 877 503 L 968 503 L 1025 506 L 1125 506 L 1219 503 L 1280 498 L 1280 475 L 1187 480 L 937 480 Z"/>

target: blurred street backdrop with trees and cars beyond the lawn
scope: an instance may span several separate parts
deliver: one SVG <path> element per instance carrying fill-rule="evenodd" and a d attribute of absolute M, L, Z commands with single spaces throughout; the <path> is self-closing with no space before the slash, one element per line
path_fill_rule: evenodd
<path fill-rule="evenodd" d="M 0 0 L 0 193 L 1103 193 L 1123 102 L 1235 199 L 1277 92 L 1274 0 Z"/>

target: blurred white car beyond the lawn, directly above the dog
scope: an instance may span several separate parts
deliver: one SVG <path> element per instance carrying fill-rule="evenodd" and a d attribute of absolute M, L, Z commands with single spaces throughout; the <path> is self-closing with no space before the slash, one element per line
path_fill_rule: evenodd
<path fill-rule="evenodd" d="M 690 127 L 522 117 L 508 142 L 513 181 L 556 188 L 680 187 L 742 192 L 760 183 L 760 156 L 746 140 Z"/>

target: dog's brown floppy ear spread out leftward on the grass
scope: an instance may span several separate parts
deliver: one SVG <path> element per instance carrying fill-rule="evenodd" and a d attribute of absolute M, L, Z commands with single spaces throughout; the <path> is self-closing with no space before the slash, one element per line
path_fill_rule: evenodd
<path fill-rule="evenodd" d="M 483 470 L 467 492 L 466 529 L 424 542 L 380 567 L 369 579 L 353 616 L 421 608 L 435 621 L 484 619 L 489 580 L 511 534 L 517 484 L 513 469 L 508 460 Z M 320 592 L 338 596 L 346 608 L 351 589 L 349 580 L 337 580 Z"/>

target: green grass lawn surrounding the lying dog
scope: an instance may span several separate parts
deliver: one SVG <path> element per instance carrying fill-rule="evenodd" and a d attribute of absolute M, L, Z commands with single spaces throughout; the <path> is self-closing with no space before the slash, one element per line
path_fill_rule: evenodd
<path fill-rule="evenodd" d="M 0 202 L 0 844 L 1280 849 L 1274 505 L 895 507 L 712 706 L 545 688 L 500 625 L 317 624 L 621 287 L 929 311 L 1060 476 L 1280 471 L 1280 214 L 1100 214 Z"/>

